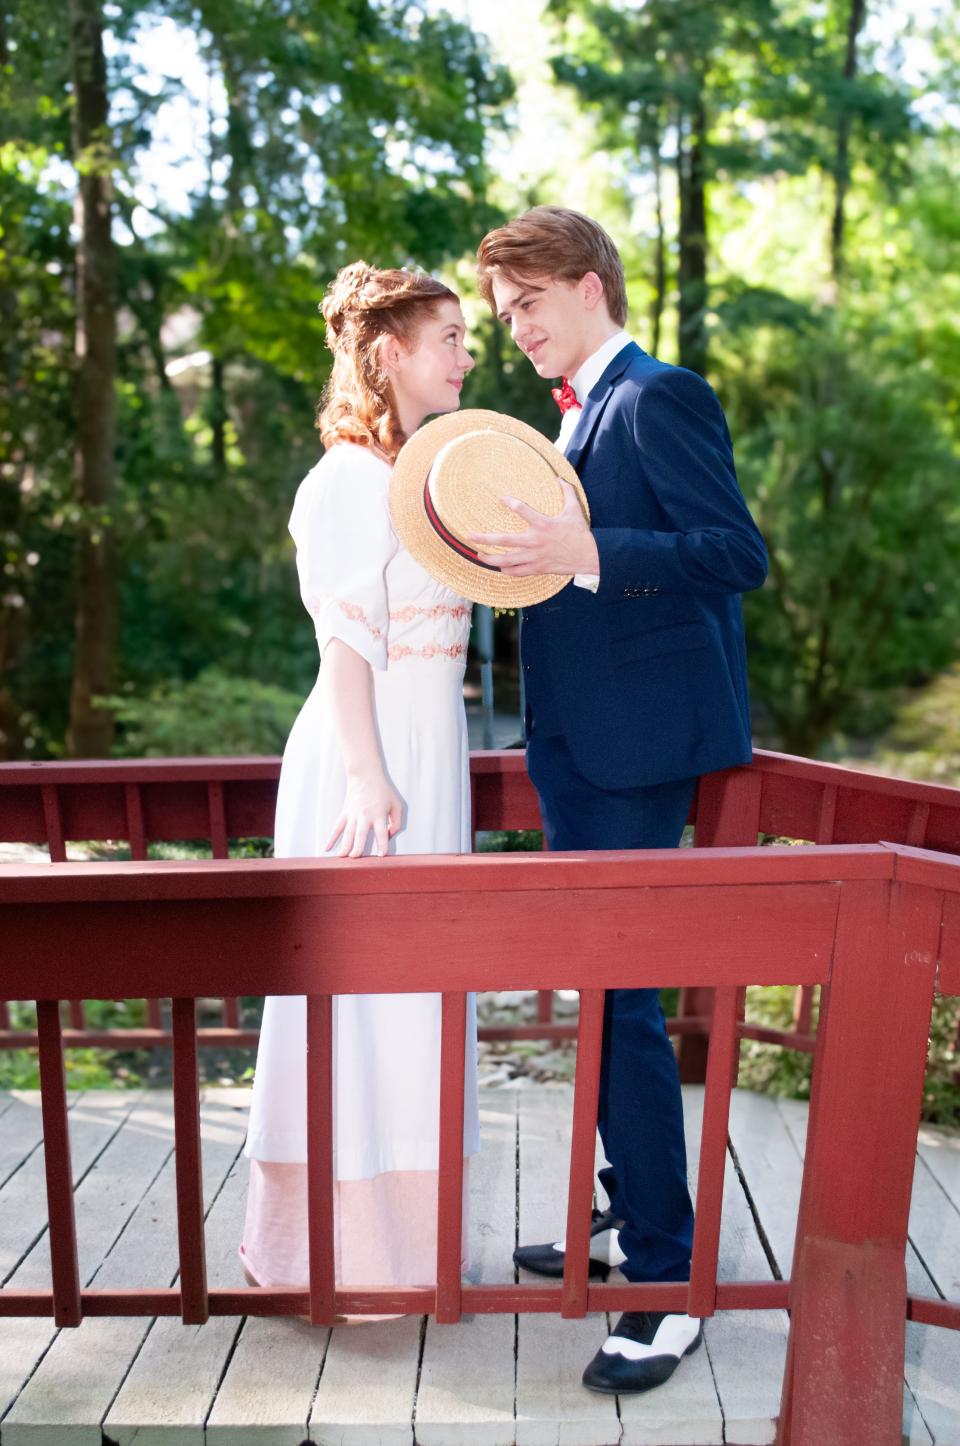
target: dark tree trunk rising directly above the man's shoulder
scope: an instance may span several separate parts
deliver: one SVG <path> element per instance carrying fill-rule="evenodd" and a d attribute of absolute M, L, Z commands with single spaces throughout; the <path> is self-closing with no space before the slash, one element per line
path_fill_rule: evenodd
<path fill-rule="evenodd" d="M 684 120 L 687 124 L 684 124 Z M 707 373 L 707 194 L 704 147 L 707 116 L 703 90 L 678 126 L 677 179 L 680 194 L 680 364 Z"/>

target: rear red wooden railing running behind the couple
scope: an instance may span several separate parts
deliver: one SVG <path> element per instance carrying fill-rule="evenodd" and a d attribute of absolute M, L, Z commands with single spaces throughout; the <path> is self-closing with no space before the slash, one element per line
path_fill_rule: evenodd
<path fill-rule="evenodd" d="M 38 843 L 55 862 L 67 857 L 67 840 L 127 840 L 133 860 L 147 856 L 147 843 L 202 840 L 215 859 L 227 857 L 228 840 L 270 837 L 279 759 L 191 758 L 0 765 L 0 843 Z M 474 831 L 538 829 L 536 795 L 516 750 L 471 756 Z M 752 846 L 759 834 L 827 843 L 888 840 L 947 853 L 960 852 L 960 790 L 885 778 L 830 763 L 758 750 L 749 768 L 704 778 L 691 808 L 698 847 Z M 9 992 L 9 991 L 4 991 Z M 126 995 L 129 998 L 129 992 Z M 574 1038 L 575 1024 L 554 1022 L 552 995 L 538 998 L 536 1022 L 487 1025 L 486 1040 Z M 800 986 L 792 1030 L 750 1024 L 737 1005 L 739 1038 L 811 1051 L 814 988 Z M 147 1001 L 147 1024 L 139 1030 L 93 1030 L 82 1001 L 68 1005 L 67 1047 L 140 1048 L 169 1045 L 162 1004 Z M 680 1038 L 681 1076 L 703 1080 L 713 992 L 685 989 L 680 1015 L 668 1019 Z M 236 995 L 223 1001 L 220 1027 L 200 1030 L 204 1045 L 253 1045 L 257 1031 L 240 1027 Z M 0 1002 L 0 1048 L 36 1044 L 30 1030 L 14 1030 Z"/>

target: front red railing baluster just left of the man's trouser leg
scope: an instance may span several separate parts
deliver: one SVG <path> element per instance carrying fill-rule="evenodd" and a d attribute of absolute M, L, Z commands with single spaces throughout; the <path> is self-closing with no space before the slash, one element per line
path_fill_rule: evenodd
<path fill-rule="evenodd" d="M 574 1124 L 570 1141 L 570 1184 L 567 1190 L 567 1235 L 561 1297 L 561 1314 L 565 1319 L 574 1319 L 587 1313 L 590 1202 L 593 1199 L 593 1174 L 597 1154 L 603 1001 L 603 989 L 580 991 Z"/>

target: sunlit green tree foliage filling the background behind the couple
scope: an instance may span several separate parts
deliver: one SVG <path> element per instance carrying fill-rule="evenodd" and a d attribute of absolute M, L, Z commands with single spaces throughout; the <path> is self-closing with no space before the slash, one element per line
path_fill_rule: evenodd
<path fill-rule="evenodd" d="M 549 389 L 471 282 L 483 231 L 541 198 L 606 207 L 633 334 L 706 369 L 729 411 L 773 560 L 747 600 L 765 739 L 817 750 L 870 735 L 905 688 L 957 658 L 960 40 L 947 7 L 911 23 L 927 45 L 921 95 L 892 0 L 552 0 L 541 32 L 552 98 L 580 107 L 590 145 L 580 159 L 562 133 L 544 137 L 542 197 L 492 179 L 512 81 L 438 4 L 119 0 L 103 13 L 120 748 L 160 746 L 137 732 L 134 700 L 156 706 L 158 737 L 182 750 L 176 717 L 187 727 L 195 683 L 207 697 L 241 680 L 237 714 L 257 685 L 302 697 L 312 683 L 286 518 L 320 450 L 317 304 L 341 263 L 444 268 L 467 296 L 477 359 L 464 403 L 555 435 Z M 200 85 L 150 64 L 173 26 Z M 53 0 L 0 4 L 6 756 L 62 752 L 72 664 L 82 515 L 67 40 Z M 163 194 L 145 158 L 178 97 L 192 107 L 185 161 L 201 163 Z M 500 619 L 503 661 L 513 629 Z M 237 746 L 262 736 L 249 722 L 244 735 L 237 719 Z"/>

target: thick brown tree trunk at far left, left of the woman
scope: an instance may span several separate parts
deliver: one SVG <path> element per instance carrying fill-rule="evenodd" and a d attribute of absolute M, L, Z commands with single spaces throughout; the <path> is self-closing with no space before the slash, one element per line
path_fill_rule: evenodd
<path fill-rule="evenodd" d="M 113 716 L 94 706 L 110 693 L 117 643 L 117 570 L 110 503 L 116 432 L 116 256 L 107 65 L 98 0 L 69 0 L 77 195 L 77 630 L 68 749 L 103 758 Z"/>

